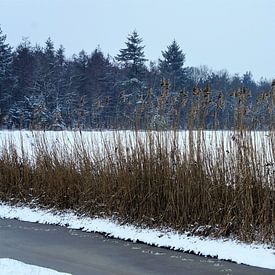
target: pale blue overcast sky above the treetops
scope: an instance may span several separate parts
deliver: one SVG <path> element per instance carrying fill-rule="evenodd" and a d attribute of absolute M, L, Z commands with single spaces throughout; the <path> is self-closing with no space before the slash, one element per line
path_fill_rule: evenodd
<path fill-rule="evenodd" d="M 185 66 L 275 78 L 275 0 L 0 0 L 0 27 L 13 47 L 51 37 L 68 57 L 115 56 L 136 30 L 150 60 L 175 39 Z"/>

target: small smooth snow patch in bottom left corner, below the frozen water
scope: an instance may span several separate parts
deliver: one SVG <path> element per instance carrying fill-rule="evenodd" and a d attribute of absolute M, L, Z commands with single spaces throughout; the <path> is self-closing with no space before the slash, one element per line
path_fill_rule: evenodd
<path fill-rule="evenodd" d="M 6 258 L 0 259 L 0 270 L 1 275 L 70 275 Z"/>

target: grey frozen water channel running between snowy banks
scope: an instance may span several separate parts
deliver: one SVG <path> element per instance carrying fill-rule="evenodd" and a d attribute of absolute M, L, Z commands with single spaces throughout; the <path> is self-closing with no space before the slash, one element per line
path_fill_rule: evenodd
<path fill-rule="evenodd" d="M 0 219 L 0 258 L 87 274 L 274 274 L 53 225 Z"/>

